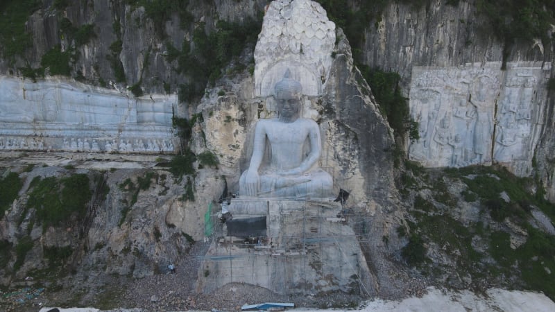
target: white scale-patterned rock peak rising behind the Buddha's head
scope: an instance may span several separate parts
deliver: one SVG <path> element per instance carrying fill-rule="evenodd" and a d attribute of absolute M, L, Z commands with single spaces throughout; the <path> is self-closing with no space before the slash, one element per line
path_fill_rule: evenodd
<path fill-rule="evenodd" d="M 273 1 L 255 48 L 255 96 L 273 94 L 288 68 L 304 94 L 320 95 L 330 73 L 334 44 L 335 24 L 319 3 Z"/>

